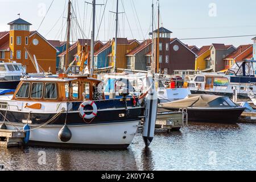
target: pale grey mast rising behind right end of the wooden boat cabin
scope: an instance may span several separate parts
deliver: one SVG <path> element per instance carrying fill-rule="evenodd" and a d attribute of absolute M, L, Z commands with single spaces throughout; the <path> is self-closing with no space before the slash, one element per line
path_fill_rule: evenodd
<path fill-rule="evenodd" d="M 93 76 L 94 71 L 94 36 L 95 36 L 95 11 L 96 0 L 92 1 L 93 6 L 93 27 L 92 27 L 92 39 L 90 40 L 90 76 Z"/>

